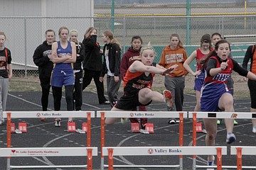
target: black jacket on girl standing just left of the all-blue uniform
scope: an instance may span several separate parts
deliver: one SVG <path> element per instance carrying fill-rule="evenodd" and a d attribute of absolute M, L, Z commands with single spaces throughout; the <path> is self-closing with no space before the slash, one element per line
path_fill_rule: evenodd
<path fill-rule="evenodd" d="M 39 79 L 50 78 L 51 76 L 53 62 L 48 57 L 50 54 L 51 45 L 48 45 L 46 41 L 39 45 L 33 54 L 33 62 L 38 66 Z"/>

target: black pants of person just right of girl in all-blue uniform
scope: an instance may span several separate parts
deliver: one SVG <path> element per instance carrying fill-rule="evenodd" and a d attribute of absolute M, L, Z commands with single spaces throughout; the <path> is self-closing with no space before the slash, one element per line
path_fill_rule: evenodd
<path fill-rule="evenodd" d="M 75 100 L 75 103 L 73 103 L 75 111 L 82 110 L 82 70 L 75 72 L 73 99 Z"/>

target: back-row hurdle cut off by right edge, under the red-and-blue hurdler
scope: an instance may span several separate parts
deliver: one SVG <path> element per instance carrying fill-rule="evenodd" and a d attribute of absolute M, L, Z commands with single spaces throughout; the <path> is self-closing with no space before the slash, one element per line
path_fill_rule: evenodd
<path fill-rule="evenodd" d="M 193 118 L 193 137 L 192 145 L 196 146 L 196 118 L 235 118 L 235 119 L 252 119 L 256 118 L 256 113 L 249 112 L 188 112 L 188 118 Z M 207 166 L 196 165 L 196 155 L 193 155 L 193 169 L 206 168 Z M 214 166 L 213 166 L 214 167 Z M 236 166 L 223 166 L 223 168 L 236 169 Z"/>

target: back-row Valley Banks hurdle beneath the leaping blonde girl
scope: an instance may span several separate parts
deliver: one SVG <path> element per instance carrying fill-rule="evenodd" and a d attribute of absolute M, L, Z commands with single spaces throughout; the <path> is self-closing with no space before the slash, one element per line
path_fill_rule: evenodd
<path fill-rule="evenodd" d="M 170 112 L 170 111 L 97 111 L 97 118 L 101 118 L 101 169 L 108 167 L 104 164 L 104 155 L 102 154 L 105 147 L 105 118 L 179 118 L 179 146 L 183 146 L 183 118 L 187 118 L 187 112 Z M 166 167 L 156 165 L 157 167 Z M 116 167 L 137 167 L 134 165 L 116 165 Z M 183 156 L 179 155 L 178 165 L 169 165 L 169 167 L 180 167 L 183 169 Z"/>

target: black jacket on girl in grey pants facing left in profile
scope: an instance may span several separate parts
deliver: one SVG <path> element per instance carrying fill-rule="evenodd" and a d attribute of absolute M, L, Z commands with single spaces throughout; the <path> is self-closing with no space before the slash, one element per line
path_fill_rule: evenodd
<path fill-rule="evenodd" d="M 107 65 L 105 58 L 106 49 L 109 49 L 108 58 L 110 62 L 110 72 L 112 72 L 115 77 L 119 77 L 121 66 L 121 52 L 119 45 L 117 45 L 116 43 L 105 44 L 105 46 L 103 47 L 104 62 L 101 76 L 104 77 L 107 73 Z"/>

